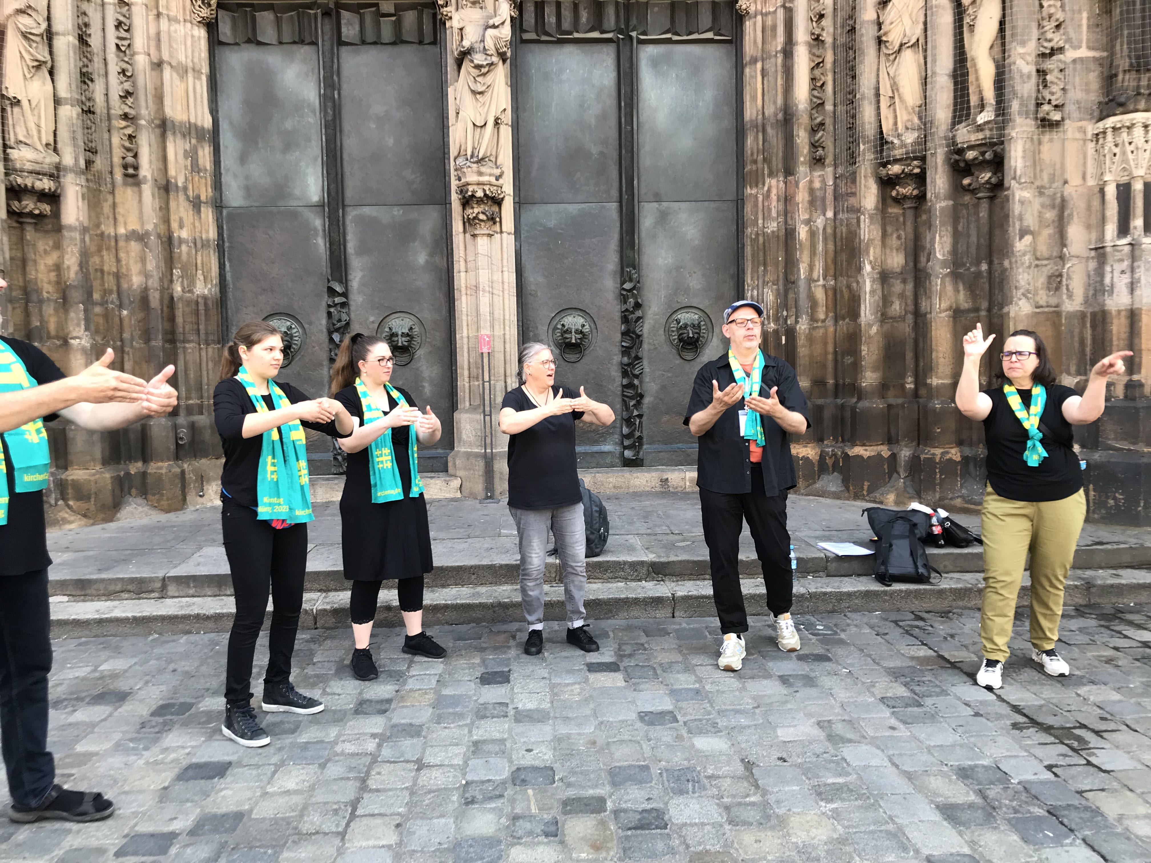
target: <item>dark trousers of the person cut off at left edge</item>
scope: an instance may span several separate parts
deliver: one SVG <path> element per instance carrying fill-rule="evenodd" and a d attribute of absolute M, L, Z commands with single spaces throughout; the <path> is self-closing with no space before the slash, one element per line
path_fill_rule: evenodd
<path fill-rule="evenodd" d="M 0 575 L 0 748 L 12 802 L 35 809 L 56 780 L 48 751 L 48 571 Z"/>

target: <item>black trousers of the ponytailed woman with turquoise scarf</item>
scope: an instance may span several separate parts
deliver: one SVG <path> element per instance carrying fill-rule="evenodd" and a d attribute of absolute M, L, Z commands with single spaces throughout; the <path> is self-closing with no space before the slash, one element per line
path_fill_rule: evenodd
<path fill-rule="evenodd" d="M 252 700 L 252 659 L 272 594 L 268 633 L 268 670 L 265 685 L 280 683 L 291 674 L 291 654 L 304 605 L 307 567 L 307 525 L 276 530 L 256 518 L 256 510 L 224 501 L 223 549 L 236 594 L 236 619 L 228 636 L 228 678 L 224 697 L 233 707 Z"/>

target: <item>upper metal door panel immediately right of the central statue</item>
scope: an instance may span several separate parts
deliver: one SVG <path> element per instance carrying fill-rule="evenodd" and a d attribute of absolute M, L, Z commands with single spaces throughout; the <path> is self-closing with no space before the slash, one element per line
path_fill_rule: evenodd
<path fill-rule="evenodd" d="M 520 44 L 519 150 L 523 204 L 619 200 L 615 44 Z"/>

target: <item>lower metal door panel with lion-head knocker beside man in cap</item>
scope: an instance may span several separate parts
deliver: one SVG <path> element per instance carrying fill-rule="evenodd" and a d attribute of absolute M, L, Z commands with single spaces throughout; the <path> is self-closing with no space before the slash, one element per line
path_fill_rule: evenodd
<path fill-rule="evenodd" d="M 694 446 L 683 425 L 695 373 L 726 351 L 718 331 L 722 312 L 739 291 L 735 201 L 640 204 L 640 272 L 645 306 L 645 464 L 693 464 Z M 698 306 L 711 320 L 710 341 L 694 360 L 680 359 L 665 334 L 668 318 Z"/>

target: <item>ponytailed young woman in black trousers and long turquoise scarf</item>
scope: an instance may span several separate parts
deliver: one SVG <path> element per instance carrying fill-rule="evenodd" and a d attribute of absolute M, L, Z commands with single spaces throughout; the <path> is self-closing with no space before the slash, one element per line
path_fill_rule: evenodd
<path fill-rule="evenodd" d="M 304 429 L 345 437 L 356 428 L 338 402 L 310 399 L 290 383 L 274 381 L 281 365 L 280 330 L 264 321 L 245 323 L 224 348 L 212 398 L 224 455 L 223 548 L 236 595 L 222 731 L 246 747 L 269 742 L 250 692 L 269 588 L 273 610 L 262 708 L 289 713 L 323 710 L 322 702 L 297 692 L 289 680 L 304 604 L 307 522 L 313 518 Z"/>

